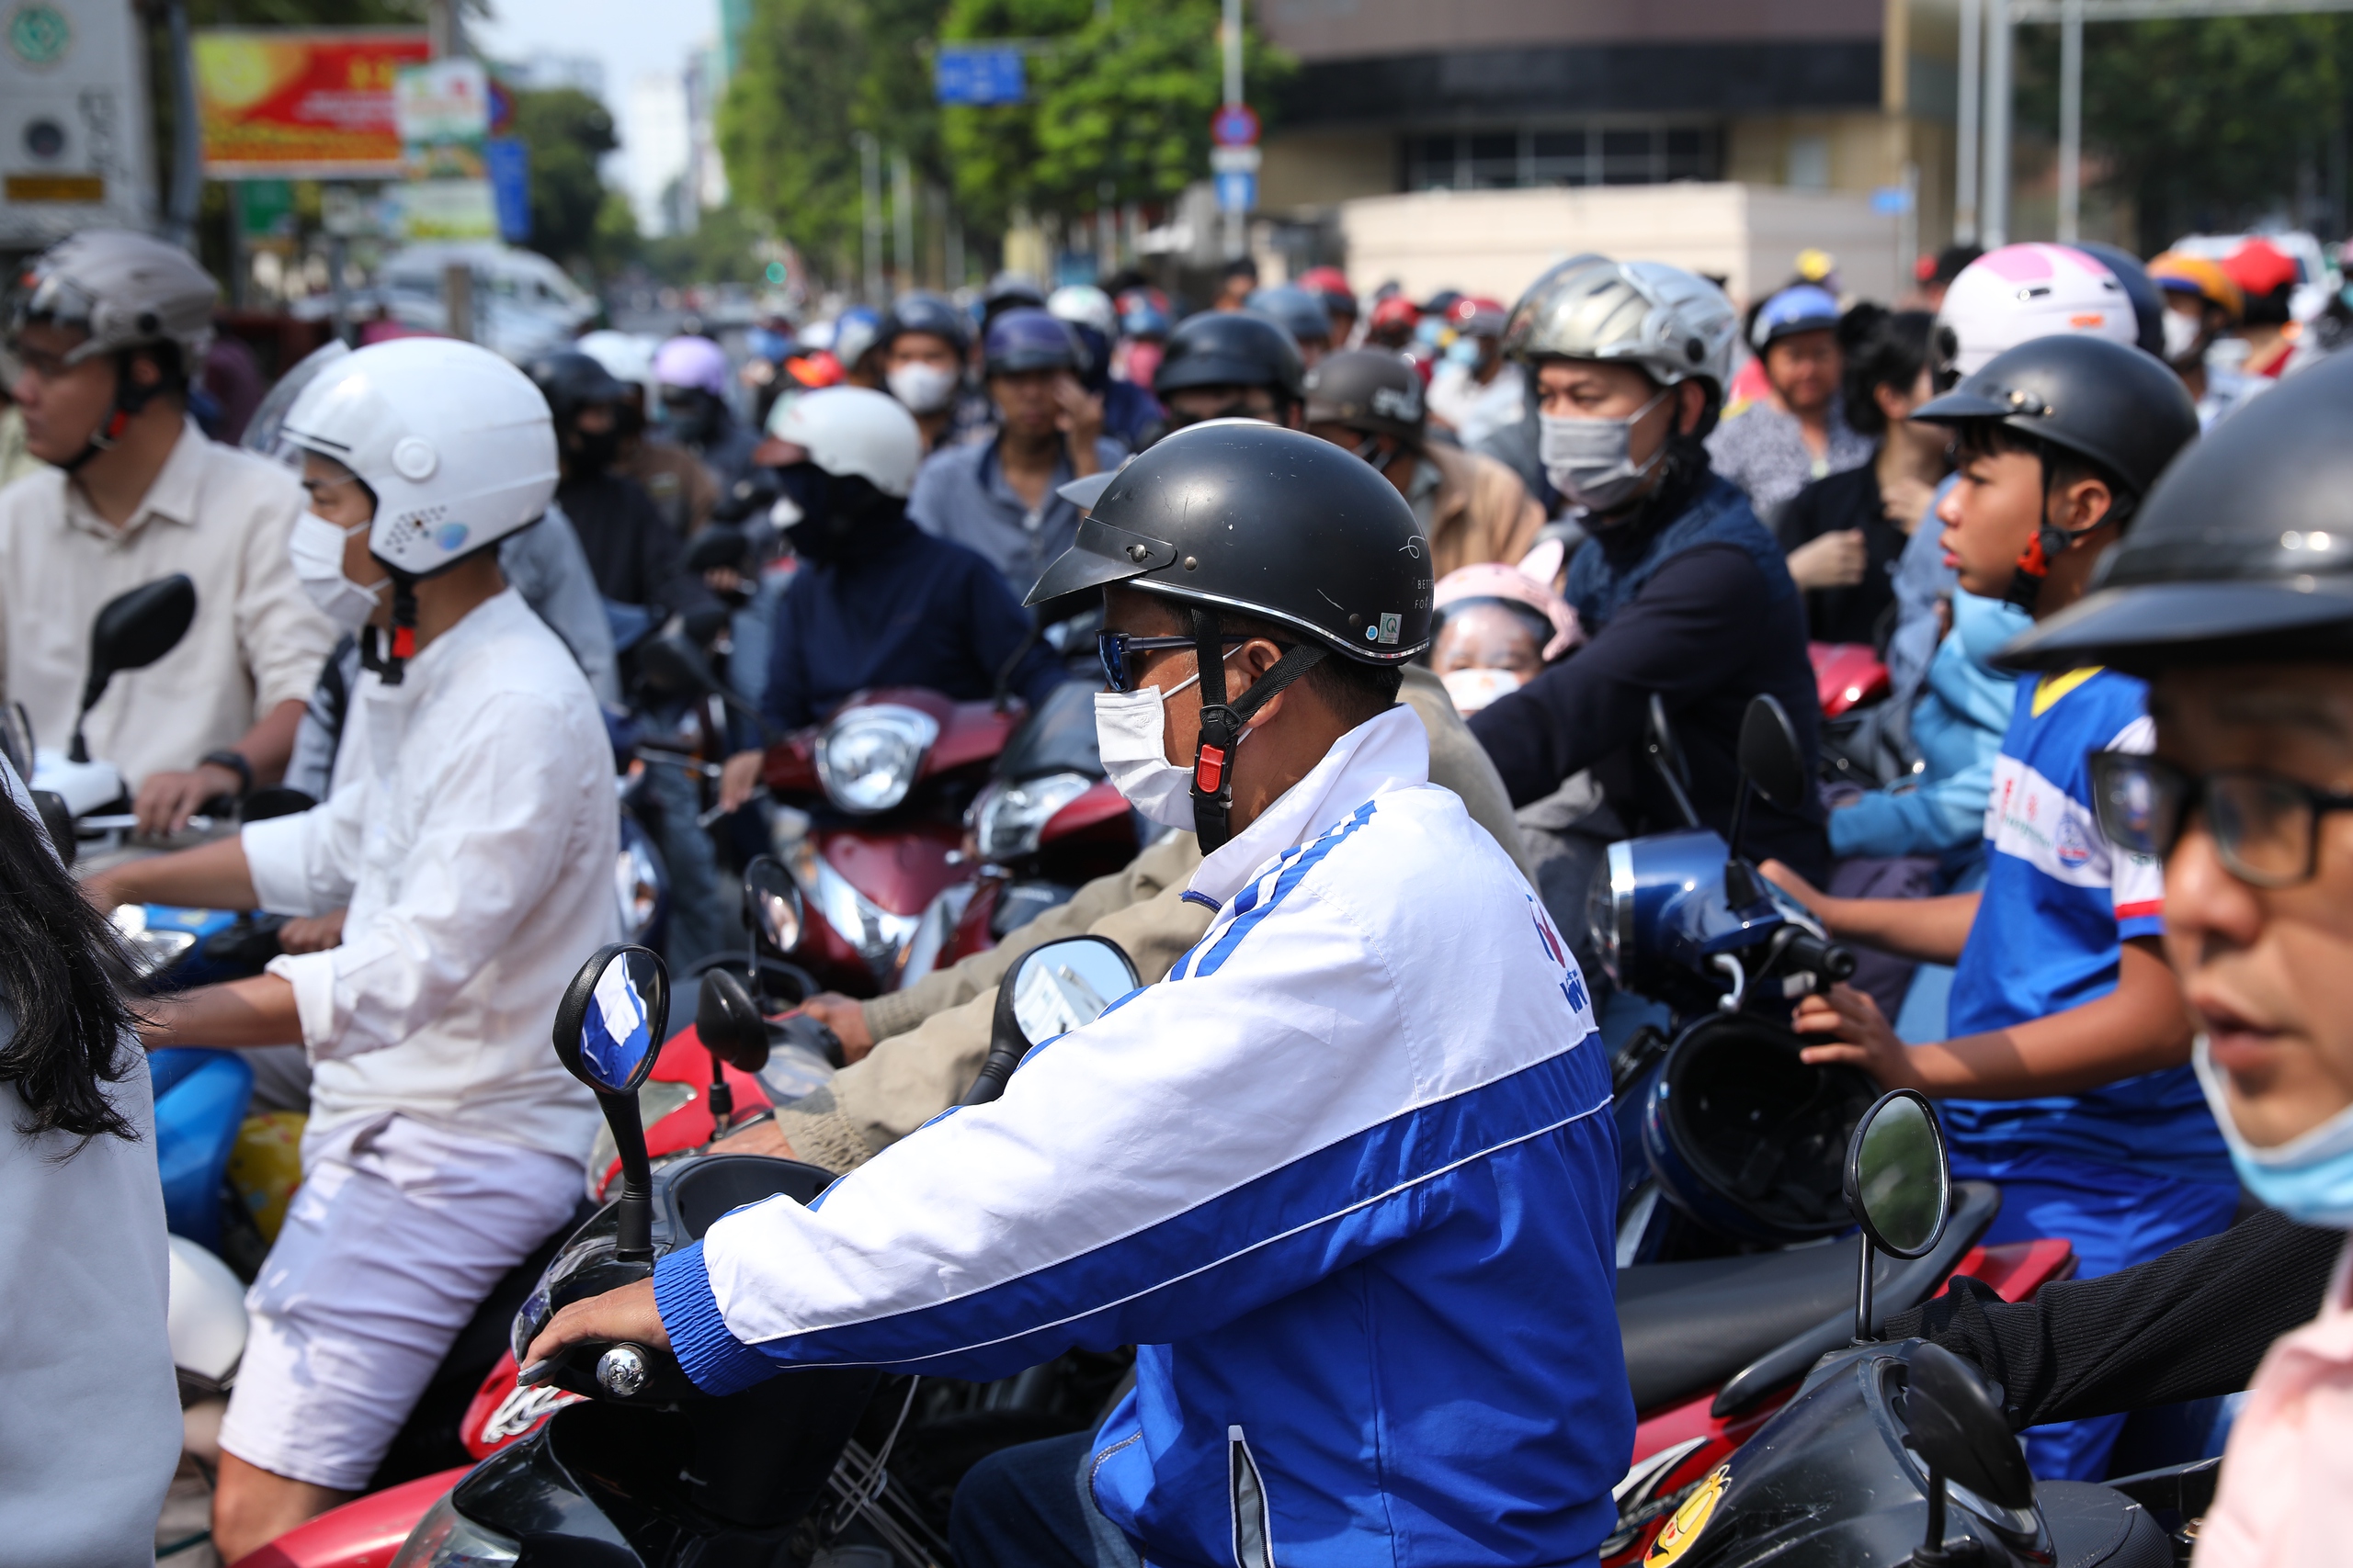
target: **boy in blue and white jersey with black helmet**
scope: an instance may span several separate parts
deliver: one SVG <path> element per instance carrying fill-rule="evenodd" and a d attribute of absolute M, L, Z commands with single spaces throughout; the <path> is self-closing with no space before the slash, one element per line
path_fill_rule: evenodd
<path fill-rule="evenodd" d="M 1913 418 L 1955 428 L 1960 482 L 1939 505 L 1960 588 L 2035 621 L 2082 597 L 2198 414 L 2162 364 L 2118 343 L 2035 339 Z M 2231 1222 L 2238 1182 L 2188 1063 L 2165 966 L 2162 867 L 2115 849 L 2092 806 L 2092 752 L 2151 748 L 2146 686 L 2085 668 L 2019 682 L 1986 802 L 1981 893 L 1824 898 L 1842 938 L 1955 964 L 1953 1037 L 1906 1046 L 1868 994 L 1807 999 L 1807 1060 L 1852 1063 L 1944 1100 L 1953 1171 L 2002 1187 L 1988 1241 L 2064 1237 L 2080 1276 L 2111 1274 Z M 2120 1415 L 2028 1432 L 2038 1474 L 2106 1474 Z"/>

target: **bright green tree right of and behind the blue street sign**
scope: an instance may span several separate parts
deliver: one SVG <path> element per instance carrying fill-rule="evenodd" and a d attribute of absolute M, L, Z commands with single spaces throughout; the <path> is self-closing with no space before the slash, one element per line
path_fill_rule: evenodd
<path fill-rule="evenodd" d="M 1160 202 L 1209 172 L 1224 99 L 1219 0 L 953 0 L 948 40 L 1047 40 L 1028 52 L 1028 99 L 951 106 L 941 136 L 960 209 L 1002 228 L 1014 205 L 1094 212 Z M 1294 61 L 1245 33 L 1242 80 L 1268 103 Z"/>

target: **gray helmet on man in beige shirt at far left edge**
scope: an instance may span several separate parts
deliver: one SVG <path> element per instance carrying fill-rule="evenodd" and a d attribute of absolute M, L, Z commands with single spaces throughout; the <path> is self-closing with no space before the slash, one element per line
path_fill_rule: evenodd
<path fill-rule="evenodd" d="M 66 355 L 68 364 L 174 343 L 193 376 L 212 346 L 219 296 L 188 252 L 127 228 L 85 228 L 24 270 L 9 303 L 9 336 L 33 324 L 80 327 L 89 341 Z"/>

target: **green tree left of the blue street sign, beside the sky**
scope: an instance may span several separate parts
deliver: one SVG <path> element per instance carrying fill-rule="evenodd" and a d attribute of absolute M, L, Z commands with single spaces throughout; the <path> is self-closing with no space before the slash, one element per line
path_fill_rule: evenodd
<path fill-rule="evenodd" d="M 946 183 L 922 49 L 941 9 L 944 0 L 753 0 L 718 115 L 727 183 L 835 277 L 856 275 L 859 132 L 906 153 L 915 181 Z"/>

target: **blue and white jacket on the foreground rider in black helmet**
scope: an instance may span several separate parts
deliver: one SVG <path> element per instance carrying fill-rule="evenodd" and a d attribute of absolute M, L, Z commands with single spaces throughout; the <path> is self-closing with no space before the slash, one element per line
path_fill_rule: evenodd
<path fill-rule="evenodd" d="M 1132 1342 L 1092 1479 L 1155 1568 L 1591 1563 L 1633 1443 L 1617 1135 L 1544 905 L 1405 708 L 1188 896 L 1167 983 L 1005 1098 L 664 1258 L 678 1359 L 732 1392 Z"/>

